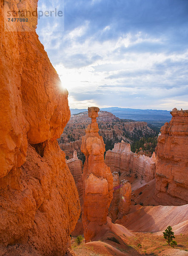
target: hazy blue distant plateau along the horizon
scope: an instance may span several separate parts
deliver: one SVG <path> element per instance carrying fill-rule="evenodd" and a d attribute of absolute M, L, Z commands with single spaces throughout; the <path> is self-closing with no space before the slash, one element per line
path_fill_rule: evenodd
<path fill-rule="evenodd" d="M 135 121 L 147 122 L 161 127 L 165 122 L 170 122 L 171 114 L 167 110 L 134 109 L 134 108 L 101 108 L 101 111 L 108 111 L 121 119 L 132 119 Z M 85 112 L 87 109 L 71 109 L 71 115 Z"/>

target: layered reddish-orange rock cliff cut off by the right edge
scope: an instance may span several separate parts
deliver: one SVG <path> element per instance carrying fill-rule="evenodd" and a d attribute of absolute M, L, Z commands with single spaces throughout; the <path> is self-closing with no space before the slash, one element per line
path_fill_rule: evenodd
<path fill-rule="evenodd" d="M 157 143 L 155 199 L 166 205 L 188 203 L 188 110 L 174 108 Z"/>

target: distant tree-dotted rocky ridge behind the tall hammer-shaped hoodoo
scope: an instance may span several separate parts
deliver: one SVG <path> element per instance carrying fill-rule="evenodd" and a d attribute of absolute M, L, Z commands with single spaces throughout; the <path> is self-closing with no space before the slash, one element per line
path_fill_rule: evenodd
<path fill-rule="evenodd" d="M 99 124 L 99 134 L 103 137 L 105 148 L 113 148 L 114 143 L 124 140 L 133 143 L 143 136 L 154 136 L 155 131 L 148 127 L 146 122 L 134 122 L 129 119 L 119 119 L 112 113 L 100 111 L 97 118 Z M 60 148 L 66 152 L 68 158 L 73 157 L 74 150 L 77 150 L 78 157 L 83 158 L 79 150 L 81 138 L 85 134 L 85 128 L 89 124 L 88 112 L 71 116 L 63 134 L 58 142 Z"/>

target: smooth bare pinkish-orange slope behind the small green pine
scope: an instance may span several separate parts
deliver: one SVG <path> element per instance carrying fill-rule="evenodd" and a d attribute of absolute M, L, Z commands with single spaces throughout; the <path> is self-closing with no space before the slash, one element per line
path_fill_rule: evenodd
<path fill-rule="evenodd" d="M 135 205 L 130 213 L 117 223 L 131 232 L 158 232 L 171 226 L 175 235 L 188 233 L 188 204 L 182 206 L 146 206 Z"/>

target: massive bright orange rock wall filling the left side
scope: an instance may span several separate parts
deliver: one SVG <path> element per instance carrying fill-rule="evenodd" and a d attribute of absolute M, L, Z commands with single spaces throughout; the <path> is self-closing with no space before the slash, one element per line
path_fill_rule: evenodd
<path fill-rule="evenodd" d="M 68 92 L 62 89 L 36 32 L 4 31 L 4 3 L 0 8 L 0 245 L 3 255 L 9 255 L 11 245 L 17 255 L 23 245 L 27 255 L 62 256 L 80 215 L 75 182 L 57 144 L 70 118 Z M 20 4 L 12 0 L 6 11 L 17 11 Z M 37 0 L 24 1 L 22 8 L 36 9 Z M 37 17 L 34 29 L 36 25 Z M 12 22 L 12 31 L 16 26 Z"/>

